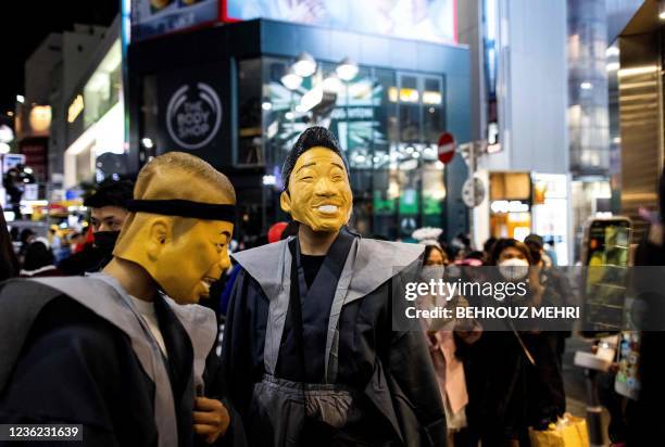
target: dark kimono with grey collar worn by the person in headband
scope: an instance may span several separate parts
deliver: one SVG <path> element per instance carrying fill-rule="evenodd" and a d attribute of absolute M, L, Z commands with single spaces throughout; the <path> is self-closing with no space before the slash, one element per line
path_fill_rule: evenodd
<path fill-rule="evenodd" d="M 108 276 L 3 283 L 0 423 L 83 424 L 81 446 L 203 445 L 195 387 L 221 397 L 215 316 L 154 304 L 167 359 Z"/>

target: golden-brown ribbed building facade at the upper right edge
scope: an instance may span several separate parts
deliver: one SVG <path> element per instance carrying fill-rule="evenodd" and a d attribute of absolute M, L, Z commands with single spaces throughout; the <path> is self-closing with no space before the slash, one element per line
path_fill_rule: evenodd
<path fill-rule="evenodd" d="M 620 162 L 613 192 L 617 212 L 631 219 L 632 241 L 638 243 L 649 224 L 640 208 L 655 213 L 660 208 L 658 181 L 665 163 L 665 5 L 656 0 L 624 0 L 613 7 L 607 71 L 614 98 L 613 140 Z"/>

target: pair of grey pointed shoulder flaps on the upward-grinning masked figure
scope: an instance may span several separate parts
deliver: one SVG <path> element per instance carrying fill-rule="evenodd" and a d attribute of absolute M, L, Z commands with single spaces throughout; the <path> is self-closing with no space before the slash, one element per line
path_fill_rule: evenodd
<path fill-rule="evenodd" d="M 235 253 L 231 256 L 274 299 L 284 281 L 285 263 L 290 265 L 288 240 Z M 357 238 L 357 255 L 346 303 L 362 298 L 417 260 L 425 247 L 419 244 Z"/>

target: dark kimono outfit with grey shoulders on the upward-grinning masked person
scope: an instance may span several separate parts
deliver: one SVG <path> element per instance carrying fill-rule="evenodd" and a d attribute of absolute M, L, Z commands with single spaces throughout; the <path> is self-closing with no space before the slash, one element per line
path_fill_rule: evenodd
<path fill-rule="evenodd" d="M 314 430 L 329 435 L 313 436 L 318 446 L 446 446 L 446 417 L 424 334 L 419 325 L 398 331 L 392 319 L 406 306 L 403 296 L 393 294 L 417 277 L 423 250 L 342 230 L 311 286 L 302 281 L 294 238 L 234 255 L 242 270 L 222 358 L 228 396 L 250 445 L 306 445 L 310 413 L 326 420 L 331 411 L 337 414 L 327 414 L 326 422 L 335 427 L 324 423 Z M 292 318 L 298 298 L 301 329 Z M 300 354 L 291 345 L 298 331 Z M 299 362 L 305 370 L 300 381 L 306 383 L 293 372 Z M 327 404 L 304 399 L 303 417 L 299 405 L 304 404 L 293 403 L 312 386 L 318 396 L 321 389 L 337 394 Z M 281 393 L 283 399 L 266 393 Z"/>

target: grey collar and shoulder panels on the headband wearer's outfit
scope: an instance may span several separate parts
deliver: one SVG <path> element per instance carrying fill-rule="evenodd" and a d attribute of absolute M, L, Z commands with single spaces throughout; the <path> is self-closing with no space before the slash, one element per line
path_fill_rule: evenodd
<path fill-rule="evenodd" d="M 25 296 L 24 283 L 45 286 L 37 296 Z M 33 290 L 34 292 L 35 290 Z M 15 316 L 5 327 L 0 327 L 0 339 L 15 343 L 0 346 L 0 392 L 7 385 L 11 368 L 20 355 L 20 348 L 27 336 L 35 318 L 43 306 L 60 294 L 87 307 L 99 317 L 123 331 L 130 341 L 143 371 L 155 384 L 154 422 L 158 429 L 158 446 L 171 447 L 178 443 L 175 404 L 171 382 L 161 350 L 147 323 L 139 316 L 127 292 L 120 283 L 103 273 L 88 277 L 52 277 L 30 280 L 10 280 L 3 284 L 0 311 Z M 195 385 L 202 383 L 205 359 L 212 349 L 216 335 L 215 314 L 202 306 L 179 306 L 173 299 L 165 302 L 175 314 L 190 337 L 193 348 Z"/>

